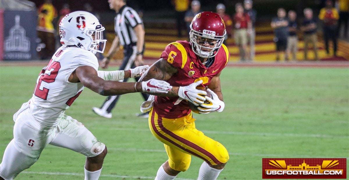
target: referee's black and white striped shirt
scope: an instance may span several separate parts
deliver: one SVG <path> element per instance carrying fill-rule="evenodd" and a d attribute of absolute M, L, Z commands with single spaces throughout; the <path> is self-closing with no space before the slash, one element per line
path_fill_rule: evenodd
<path fill-rule="evenodd" d="M 115 17 L 114 30 L 120 39 L 122 46 L 133 44 L 136 45 L 137 36 L 134 27 L 142 24 L 142 20 L 137 12 L 128 6 L 122 6 Z"/>

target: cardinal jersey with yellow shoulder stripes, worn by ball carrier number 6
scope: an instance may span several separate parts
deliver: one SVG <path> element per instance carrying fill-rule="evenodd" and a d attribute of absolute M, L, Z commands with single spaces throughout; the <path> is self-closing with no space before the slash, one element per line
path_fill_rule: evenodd
<path fill-rule="evenodd" d="M 187 41 L 170 43 L 161 54 L 161 58 L 167 60 L 178 70 L 178 73 L 167 81 L 172 86 L 187 86 L 200 80 L 203 81 L 204 86 L 209 85 L 211 79 L 227 65 L 229 56 L 228 48 L 222 44 L 218 54 L 214 57 L 213 64 L 207 68 L 201 63 Z M 188 115 L 191 112 L 188 102 L 182 100 L 179 104 L 174 105 L 177 100 L 178 97 L 156 96 L 154 110 L 160 117 L 169 119 Z"/>

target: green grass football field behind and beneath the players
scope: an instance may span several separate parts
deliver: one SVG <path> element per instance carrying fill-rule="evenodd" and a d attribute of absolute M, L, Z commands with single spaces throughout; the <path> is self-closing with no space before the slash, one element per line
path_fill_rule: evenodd
<path fill-rule="evenodd" d="M 1 159 L 13 138 L 12 116 L 32 96 L 41 68 L 0 66 Z M 226 68 L 221 83 L 224 111 L 194 116 L 196 127 L 230 153 L 218 179 L 261 179 L 262 158 L 349 158 L 348 68 Z M 85 88 L 66 111 L 108 147 L 100 179 L 154 179 L 167 155 L 147 120 L 135 116 L 140 94 L 122 96 L 112 119 L 91 111 L 104 98 Z M 83 179 L 84 161 L 48 145 L 17 179 Z M 178 179 L 197 178 L 201 163 L 192 158 Z"/>

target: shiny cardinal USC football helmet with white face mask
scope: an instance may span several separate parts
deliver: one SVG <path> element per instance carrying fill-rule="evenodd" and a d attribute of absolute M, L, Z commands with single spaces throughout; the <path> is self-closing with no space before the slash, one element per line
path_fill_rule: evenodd
<path fill-rule="evenodd" d="M 221 16 L 214 12 L 205 11 L 199 13 L 190 24 L 189 35 L 192 49 L 195 54 L 202 58 L 211 58 L 217 54 L 223 44 L 225 34 L 225 24 Z M 206 41 L 199 44 L 198 38 L 206 39 Z M 214 47 L 204 46 L 206 42 L 209 44 L 213 43 Z"/>

